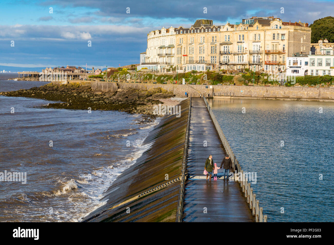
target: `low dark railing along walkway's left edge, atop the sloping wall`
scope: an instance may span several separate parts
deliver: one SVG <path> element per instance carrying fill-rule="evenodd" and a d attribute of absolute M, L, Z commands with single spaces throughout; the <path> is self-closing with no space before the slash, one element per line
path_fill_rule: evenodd
<path fill-rule="evenodd" d="M 189 125 L 190 125 L 190 109 L 191 109 L 191 95 L 190 95 L 190 101 L 189 101 L 189 110 L 188 110 L 188 121 L 187 121 L 186 136 L 185 136 L 185 140 L 184 140 L 184 150 L 183 150 L 181 180 L 180 180 L 180 191 L 179 191 L 179 199 L 177 201 L 177 210 L 176 210 L 176 220 L 175 220 L 175 222 L 182 222 L 183 201 L 184 201 L 184 186 L 185 186 L 185 171 L 187 169 L 187 154 L 188 154 Z"/>

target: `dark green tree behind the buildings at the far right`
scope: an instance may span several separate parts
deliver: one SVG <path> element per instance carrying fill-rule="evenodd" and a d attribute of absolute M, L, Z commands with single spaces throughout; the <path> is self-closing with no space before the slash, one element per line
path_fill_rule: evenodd
<path fill-rule="evenodd" d="M 334 17 L 327 16 L 315 20 L 311 27 L 311 43 L 318 43 L 320 39 L 327 39 L 328 42 L 334 43 Z"/>

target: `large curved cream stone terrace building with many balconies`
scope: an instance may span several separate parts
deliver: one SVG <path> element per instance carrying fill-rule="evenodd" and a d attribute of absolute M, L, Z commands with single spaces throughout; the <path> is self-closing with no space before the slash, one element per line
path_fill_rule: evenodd
<path fill-rule="evenodd" d="M 196 20 L 190 28 L 163 27 L 148 33 L 145 62 L 138 70 L 249 68 L 271 73 L 285 70 L 288 56 L 309 54 L 310 42 L 311 28 L 300 21 L 252 17 L 217 26 L 212 20 Z"/>

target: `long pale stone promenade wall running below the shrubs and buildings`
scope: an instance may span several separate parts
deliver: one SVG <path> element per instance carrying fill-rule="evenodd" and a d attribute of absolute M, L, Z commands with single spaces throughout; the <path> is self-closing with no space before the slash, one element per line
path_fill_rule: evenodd
<path fill-rule="evenodd" d="M 117 89 L 136 88 L 151 89 L 161 87 L 173 92 L 177 96 L 184 96 L 185 92 L 193 97 L 199 94 L 228 95 L 236 97 L 254 98 L 278 98 L 278 99 L 318 99 L 334 100 L 334 88 L 311 88 L 311 87 L 275 87 L 275 86 L 233 86 L 233 85 L 190 85 L 190 84 L 152 84 L 152 83 L 125 83 L 125 82 L 102 82 L 92 81 L 93 90 L 116 91 Z M 207 87 L 207 88 L 206 88 Z"/>

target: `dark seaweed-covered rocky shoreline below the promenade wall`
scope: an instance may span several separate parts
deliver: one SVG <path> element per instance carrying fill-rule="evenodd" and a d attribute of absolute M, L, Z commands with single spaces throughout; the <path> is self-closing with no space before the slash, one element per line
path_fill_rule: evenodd
<path fill-rule="evenodd" d="M 73 83 L 60 86 L 48 83 L 30 89 L 0 92 L 0 95 L 56 101 L 55 103 L 44 105 L 44 108 L 116 110 L 144 114 L 152 119 L 159 116 L 153 114 L 153 105 L 163 104 L 162 101 L 164 99 L 175 96 L 170 92 L 163 91 L 161 88 L 150 90 L 127 88 L 124 90 L 119 89 L 116 92 L 93 91 L 90 83 Z"/>

